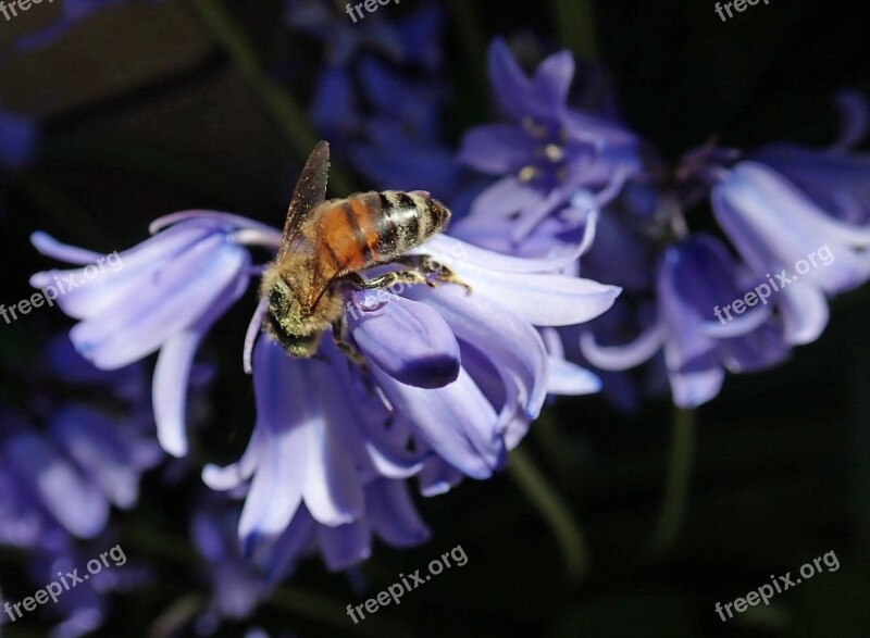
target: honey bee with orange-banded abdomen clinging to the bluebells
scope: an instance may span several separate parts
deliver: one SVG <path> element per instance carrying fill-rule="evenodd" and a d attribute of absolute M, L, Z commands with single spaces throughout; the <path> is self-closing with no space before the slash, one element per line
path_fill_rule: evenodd
<path fill-rule="evenodd" d="M 339 347 L 352 354 L 341 339 L 344 299 L 350 289 L 461 284 L 427 255 L 402 257 L 447 226 L 450 211 L 444 204 L 424 191 L 397 190 L 327 200 L 328 168 L 330 146 L 321 141 L 296 184 L 277 257 L 265 267 L 260 286 L 266 331 L 291 356 L 302 359 L 314 355 L 330 328 Z M 369 280 L 360 275 L 389 263 L 412 268 Z"/>

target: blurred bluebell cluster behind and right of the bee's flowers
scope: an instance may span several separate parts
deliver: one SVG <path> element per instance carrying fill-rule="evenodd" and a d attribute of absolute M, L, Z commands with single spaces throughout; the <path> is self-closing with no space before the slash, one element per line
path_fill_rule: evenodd
<path fill-rule="evenodd" d="M 725 371 L 776 364 L 817 339 L 828 299 L 870 277 L 870 157 L 852 152 L 868 121 L 859 96 L 840 97 L 843 134 L 830 148 L 711 143 L 669 166 L 612 99 L 593 109 L 569 103 L 569 52 L 530 77 L 496 41 L 489 74 L 506 121 L 468 132 L 459 161 L 498 180 L 456 235 L 547 255 L 595 227 L 579 266 L 623 295 L 613 311 L 561 336 L 569 356 L 597 368 L 621 405 L 636 405 L 637 392 L 620 373 L 650 361 L 649 387 L 661 387 L 664 373 L 676 405 L 711 400 Z M 705 207 L 721 234 L 693 229 Z M 807 267 L 817 254 L 823 262 Z M 747 296 L 753 290 L 763 293 Z"/>

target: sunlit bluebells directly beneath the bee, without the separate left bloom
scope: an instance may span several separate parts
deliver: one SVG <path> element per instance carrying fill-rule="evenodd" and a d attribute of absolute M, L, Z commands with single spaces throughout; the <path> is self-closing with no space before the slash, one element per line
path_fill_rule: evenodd
<path fill-rule="evenodd" d="M 360 525 L 394 545 L 419 542 L 423 528 L 412 509 L 396 501 L 393 516 L 381 520 L 386 501 L 370 492 L 426 463 L 432 493 L 455 484 L 457 471 L 486 478 L 502 467 L 551 389 L 550 360 L 535 326 L 588 321 L 619 292 L 549 274 L 575 253 L 526 260 L 446 236 L 413 252 L 447 265 L 473 291 L 443 284 L 351 293 L 346 321 L 370 374 L 349 366 L 331 343 L 310 360 L 290 359 L 271 339 L 257 345 L 251 441 L 238 463 L 203 474 L 216 489 L 250 479 L 239 522 L 248 552 L 264 551 L 301 511 L 321 526 L 331 566 L 368 555 Z M 559 387 L 588 384 L 584 371 L 561 366 L 558 373 Z M 435 467 L 438 458 L 452 471 Z"/>

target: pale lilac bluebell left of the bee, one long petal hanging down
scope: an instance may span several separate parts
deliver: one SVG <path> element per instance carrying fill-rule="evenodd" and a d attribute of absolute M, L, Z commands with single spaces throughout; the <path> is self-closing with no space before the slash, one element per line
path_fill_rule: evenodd
<path fill-rule="evenodd" d="M 261 225 L 225 213 L 186 212 L 158 220 L 154 237 L 115 253 L 62 246 L 45 234 L 32 240 L 40 252 L 74 264 L 30 278 L 36 288 L 54 288 L 57 303 L 80 320 L 70 333 L 76 350 L 97 367 L 112 370 L 160 351 L 153 405 L 164 450 L 182 456 L 187 380 L 204 334 L 248 286 L 250 254 L 237 241 Z M 272 228 L 268 228 L 274 233 Z"/>

